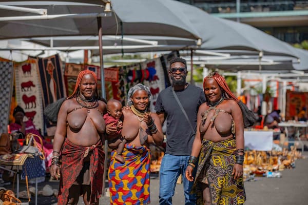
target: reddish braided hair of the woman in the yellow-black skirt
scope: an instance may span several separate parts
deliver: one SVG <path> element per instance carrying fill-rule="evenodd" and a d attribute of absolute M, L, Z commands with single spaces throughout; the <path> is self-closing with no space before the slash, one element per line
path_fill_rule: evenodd
<path fill-rule="evenodd" d="M 221 76 L 218 72 L 212 72 L 208 74 L 204 79 L 203 79 L 203 89 L 205 87 L 205 81 L 209 78 L 213 78 L 216 80 L 217 84 L 219 87 L 222 89 L 222 92 L 224 92 L 224 96 L 226 99 L 234 99 L 237 103 L 239 103 L 239 100 L 237 97 L 232 93 L 232 91 L 229 89 L 226 80 L 223 76 Z"/>

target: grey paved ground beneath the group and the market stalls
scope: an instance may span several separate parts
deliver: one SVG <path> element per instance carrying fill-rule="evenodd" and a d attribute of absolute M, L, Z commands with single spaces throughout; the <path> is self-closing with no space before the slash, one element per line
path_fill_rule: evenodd
<path fill-rule="evenodd" d="M 281 178 L 266 178 L 258 177 L 254 181 L 245 182 L 245 190 L 247 201 L 245 205 L 260 205 L 260 204 L 273 204 L 273 205 L 297 205 L 308 204 L 308 152 L 304 152 L 307 156 L 305 159 L 298 159 L 295 162 L 296 168 L 292 170 L 282 171 Z M 38 184 L 38 190 L 49 184 L 53 188 L 58 188 L 58 181 L 49 181 L 47 178 L 45 182 Z M 34 185 L 33 185 L 34 186 Z M 7 189 L 12 189 L 12 185 L 5 186 Z M 16 186 L 15 186 L 16 187 Z M 26 190 L 25 183 L 21 183 L 20 191 Z M 153 174 L 151 176 L 151 204 L 159 204 L 159 180 L 158 176 Z M 176 193 L 173 197 L 173 204 L 184 204 L 183 186 L 177 185 Z M 27 201 L 27 200 L 23 200 Z M 51 205 L 56 204 L 55 197 L 38 196 L 37 205 Z M 34 205 L 34 196 L 29 202 Z M 82 200 L 78 204 L 84 204 Z M 109 204 L 109 198 L 106 196 L 101 197 L 100 204 Z"/>

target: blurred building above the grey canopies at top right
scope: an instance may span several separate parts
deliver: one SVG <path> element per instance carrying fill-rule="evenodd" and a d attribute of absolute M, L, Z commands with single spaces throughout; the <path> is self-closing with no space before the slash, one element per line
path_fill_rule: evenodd
<path fill-rule="evenodd" d="M 211 15 L 254 26 L 290 44 L 308 40 L 308 1 L 179 0 Z"/>

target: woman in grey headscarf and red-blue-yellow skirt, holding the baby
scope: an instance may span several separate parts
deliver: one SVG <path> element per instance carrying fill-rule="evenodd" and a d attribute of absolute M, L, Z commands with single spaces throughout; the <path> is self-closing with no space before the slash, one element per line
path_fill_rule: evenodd
<path fill-rule="evenodd" d="M 163 142 L 158 115 L 149 110 L 150 96 L 149 88 L 142 84 L 128 91 L 127 104 L 130 109 L 123 109 L 121 133 L 127 141 L 122 152 L 124 163 L 115 159 L 117 148 L 114 148 L 108 170 L 111 204 L 150 203 L 149 144 L 160 145 Z M 112 135 L 117 132 L 117 128 L 109 128 L 107 131 Z"/>

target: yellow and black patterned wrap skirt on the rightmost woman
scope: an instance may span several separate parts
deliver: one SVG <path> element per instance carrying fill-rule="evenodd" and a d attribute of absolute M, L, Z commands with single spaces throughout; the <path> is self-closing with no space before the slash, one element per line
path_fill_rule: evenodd
<path fill-rule="evenodd" d="M 192 192 L 197 204 L 204 204 L 200 183 L 208 184 L 211 204 L 243 204 L 246 200 L 243 177 L 233 179 L 236 140 L 213 142 L 203 139 Z"/>

